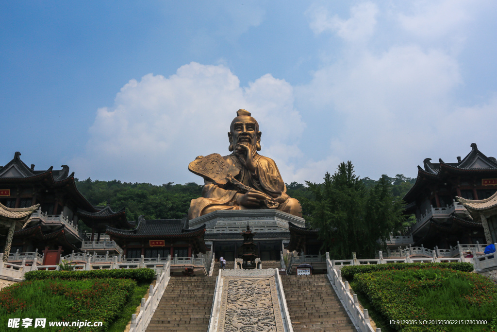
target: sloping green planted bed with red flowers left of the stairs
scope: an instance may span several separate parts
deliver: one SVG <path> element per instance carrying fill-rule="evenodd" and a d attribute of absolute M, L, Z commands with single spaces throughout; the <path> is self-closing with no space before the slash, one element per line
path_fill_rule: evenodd
<path fill-rule="evenodd" d="M 86 280 L 33 280 L 4 288 L 0 291 L 0 331 L 9 330 L 9 318 L 20 318 L 19 330 L 40 331 L 34 328 L 36 318 L 46 318 L 43 331 L 108 331 L 115 320 L 130 320 L 148 289 L 148 283 L 137 285 L 130 279 L 86 279 Z M 21 326 L 25 318 L 33 319 L 32 326 Z M 50 327 L 49 322 L 76 321 L 103 322 L 102 327 Z M 112 331 L 123 331 L 116 324 Z M 119 327 L 122 326 L 121 330 Z M 12 331 L 17 331 L 12 329 Z"/>

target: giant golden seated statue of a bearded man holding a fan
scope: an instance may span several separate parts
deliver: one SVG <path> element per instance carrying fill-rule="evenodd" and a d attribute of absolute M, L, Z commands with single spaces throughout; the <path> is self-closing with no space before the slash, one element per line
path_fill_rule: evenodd
<path fill-rule="evenodd" d="M 218 210 L 277 209 L 302 217 L 299 201 L 286 194 L 278 167 L 260 151 L 259 124 L 246 110 L 237 111 L 228 138 L 232 154 L 198 156 L 188 169 L 204 178 L 202 197 L 192 200 L 188 218 Z"/>

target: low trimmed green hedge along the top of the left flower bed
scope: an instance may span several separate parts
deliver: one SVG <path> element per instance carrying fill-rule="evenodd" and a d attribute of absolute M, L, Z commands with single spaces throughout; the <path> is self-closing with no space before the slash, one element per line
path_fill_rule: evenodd
<path fill-rule="evenodd" d="M 24 275 L 24 280 L 44 279 L 133 279 L 137 282 L 151 282 L 156 276 L 153 269 L 115 269 L 90 271 L 30 271 Z"/>

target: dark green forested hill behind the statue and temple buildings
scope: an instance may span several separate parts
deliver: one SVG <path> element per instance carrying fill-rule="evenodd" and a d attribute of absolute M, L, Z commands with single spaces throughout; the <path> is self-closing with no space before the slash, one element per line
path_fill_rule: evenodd
<path fill-rule="evenodd" d="M 413 186 L 416 179 L 397 175 L 395 178 L 387 176 L 387 181 L 392 184 L 392 195 L 402 198 Z M 202 194 L 202 186 L 190 182 L 184 185 L 169 182 L 163 185 L 150 183 L 130 183 L 113 181 L 92 181 L 90 178 L 80 181 L 75 179 L 78 190 L 95 206 L 105 206 L 110 199 L 112 210 L 117 211 L 126 207 L 128 220 L 137 220 L 144 215 L 146 219 L 180 219 L 188 213 L 190 201 Z M 378 180 L 362 179 L 367 188 L 372 188 Z M 314 195 L 308 187 L 292 182 L 287 184 L 287 193 L 290 197 L 302 202 L 304 215 L 309 203 L 314 201 Z"/>

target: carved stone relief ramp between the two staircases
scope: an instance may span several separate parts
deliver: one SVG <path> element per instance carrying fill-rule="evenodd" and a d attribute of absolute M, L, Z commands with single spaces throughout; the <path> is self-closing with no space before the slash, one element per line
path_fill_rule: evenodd
<path fill-rule="evenodd" d="M 281 281 L 276 280 L 278 276 L 268 270 L 274 271 L 274 269 L 222 271 L 222 274 L 233 275 L 222 275 L 218 278 L 217 297 L 209 331 L 293 331 L 289 316 L 286 319 L 282 317 L 282 313 L 285 316 L 287 310 L 284 295 L 281 298 L 281 286 L 277 286 L 278 282 L 281 285 Z M 288 323 L 290 327 L 287 326 Z"/>

